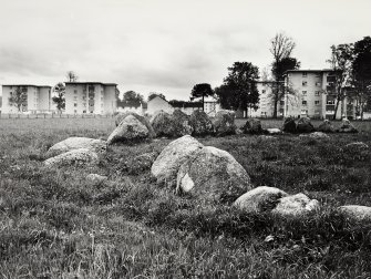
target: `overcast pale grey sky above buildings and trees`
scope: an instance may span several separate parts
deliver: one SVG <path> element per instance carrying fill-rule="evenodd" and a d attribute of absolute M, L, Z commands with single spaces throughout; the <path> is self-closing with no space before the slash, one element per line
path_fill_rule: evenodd
<path fill-rule="evenodd" d="M 0 0 L 0 84 L 54 85 L 73 70 L 168 100 L 220 85 L 235 61 L 269 66 L 277 32 L 296 41 L 301 69 L 371 35 L 370 0 Z"/>

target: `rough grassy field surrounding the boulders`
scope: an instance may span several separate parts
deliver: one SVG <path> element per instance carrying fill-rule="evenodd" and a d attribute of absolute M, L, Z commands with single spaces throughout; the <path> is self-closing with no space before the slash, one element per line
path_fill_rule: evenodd
<path fill-rule="evenodd" d="M 235 156 L 255 186 L 321 202 L 321 213 L 298 220 L 199 206 L 157 185 L 150 169 L 127 172 L 125 162 L 171 140 L 113 146 L 94 167 L 43 168 L 52 144 L 106 138 L 112 118 L 1 120 L 0 278 L 370 278 L 371 224 L 333 210 L 371 206 L 370 152 L 343 148 L 353 141 L 371 146 L 370 123 L 355 126 L 360 134 L 329 141 L 199 138 Z M 109 183 L 90 184 L 90 173 Z"/>

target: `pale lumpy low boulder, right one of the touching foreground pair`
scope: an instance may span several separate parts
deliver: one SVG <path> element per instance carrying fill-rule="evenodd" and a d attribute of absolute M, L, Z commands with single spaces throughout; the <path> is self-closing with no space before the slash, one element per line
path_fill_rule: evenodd
<path fill-rule="evenodd" d="M 271 213 L 280 216 L 300 216 L 311 213 L 319 208 L 317 199 L 310 199 L 305 194 L 300 193 L 292 196 L 282 197 Z"/>

